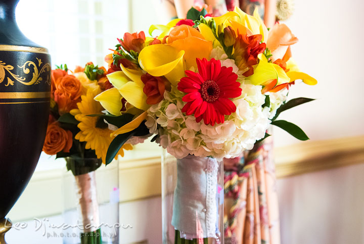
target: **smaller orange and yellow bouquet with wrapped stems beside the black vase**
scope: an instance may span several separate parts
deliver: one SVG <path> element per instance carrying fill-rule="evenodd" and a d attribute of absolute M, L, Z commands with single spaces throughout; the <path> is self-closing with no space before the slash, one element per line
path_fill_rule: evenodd
<path fill-rule="evenodd" d="M 52 70 L 51 113 L 43 151 L 65 158 L 67 170 L 74 176 L 83 226 L 81 243 L 102 243 L 95 171 L 106 161 L 112 131 L 99 116 L 104 109 L 94 97 L 111 87 L 106 69 L 93 63 L 74 72 L 67 65 Z M 132 146 L 124 144 L 115 159 L 124 155 L 124 149 Z"/>

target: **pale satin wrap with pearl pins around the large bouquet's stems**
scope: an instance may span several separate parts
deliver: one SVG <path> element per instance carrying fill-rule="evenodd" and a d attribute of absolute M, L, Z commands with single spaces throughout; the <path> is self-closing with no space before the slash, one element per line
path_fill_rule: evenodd
<path fill-rule="evenodd" d="M 216 237 L 217 172 L 214 158 L 188 155 L 177 159 L 172 225 L 181 237 L 201 238 L 201 232 L 203 238 Z"/>

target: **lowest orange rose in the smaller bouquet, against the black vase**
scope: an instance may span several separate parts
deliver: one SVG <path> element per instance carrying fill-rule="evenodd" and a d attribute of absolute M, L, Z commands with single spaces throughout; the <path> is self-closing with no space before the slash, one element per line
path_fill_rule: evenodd
<path fill-rule="evenodd" d="M 52 123 L 47 128 L 43 152 L 55 155 L 60 151 L 69 152 L 72 147 L 72 133 L 65 131 L 58 126 L 57 122 Z"/>

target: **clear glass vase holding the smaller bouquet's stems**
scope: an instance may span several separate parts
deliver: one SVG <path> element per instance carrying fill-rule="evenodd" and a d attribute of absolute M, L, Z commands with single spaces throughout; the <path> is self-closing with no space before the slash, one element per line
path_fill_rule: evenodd
<path fill-rule="evenodd" d="M 66 157 L 62 177 L 65 244 L 119 243 L 119 168 L 97 158 Z"/>

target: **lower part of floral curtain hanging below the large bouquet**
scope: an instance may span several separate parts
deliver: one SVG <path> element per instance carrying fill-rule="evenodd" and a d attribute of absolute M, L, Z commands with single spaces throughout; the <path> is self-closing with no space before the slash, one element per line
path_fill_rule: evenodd
<path fill-rule="evenodd" d="M 272 138 L 234 162 L 224 159 L 225 243 L 279 244 L 279 211 Z"/>

